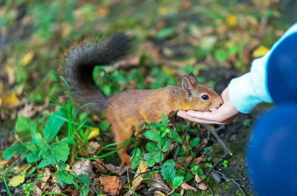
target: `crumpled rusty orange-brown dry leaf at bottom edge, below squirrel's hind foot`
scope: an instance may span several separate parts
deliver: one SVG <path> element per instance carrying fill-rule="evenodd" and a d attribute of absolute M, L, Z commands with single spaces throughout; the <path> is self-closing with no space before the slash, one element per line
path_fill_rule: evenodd
<path fill-rule="evenodd" d="M 103 181 L 103 192 L 111 196 L 119 196 L 124 187 L 123 181 L 117 176 L 108 176 Z"/>

